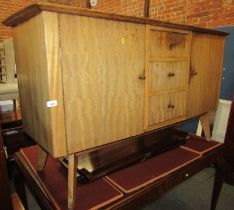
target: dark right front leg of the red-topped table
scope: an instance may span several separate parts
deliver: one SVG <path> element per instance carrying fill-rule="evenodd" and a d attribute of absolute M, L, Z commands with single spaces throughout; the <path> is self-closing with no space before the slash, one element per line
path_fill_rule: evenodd
<path fill-rule="evenodd" d="M 223 186 L 223 169 L 220 166 L 215 167 L 215 180 L 213 186 L 212 200 L 211 200 L 211 210 L 216 209 L 216 205 L 219 199 L 219 194 Z"/>

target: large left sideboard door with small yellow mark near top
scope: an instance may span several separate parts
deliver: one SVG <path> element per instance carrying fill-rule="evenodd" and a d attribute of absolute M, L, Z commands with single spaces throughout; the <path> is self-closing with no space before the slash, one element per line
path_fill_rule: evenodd
<path fill-rule="evenodd" d="M 68 152 L 142 133 L 145 26 L 59 19 Z"/>

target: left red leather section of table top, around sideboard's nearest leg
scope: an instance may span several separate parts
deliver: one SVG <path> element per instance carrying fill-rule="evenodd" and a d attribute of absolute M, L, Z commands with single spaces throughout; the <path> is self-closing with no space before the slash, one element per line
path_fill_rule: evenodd
<path fill-rule="evenodd" d="M 56 202 L 60 209 L 67 209 L 67 172 L 59 160 L 48 157 L 45 170 L 37 173 L 38 146 L 21 150 L 25 159 L 30 163 L 44 189 Z M 89 184 L 77 186 L 76 209 L 97 209 L 120 197 L 122 193 L 109 184 L 105 179 L 99 179 Z"/>

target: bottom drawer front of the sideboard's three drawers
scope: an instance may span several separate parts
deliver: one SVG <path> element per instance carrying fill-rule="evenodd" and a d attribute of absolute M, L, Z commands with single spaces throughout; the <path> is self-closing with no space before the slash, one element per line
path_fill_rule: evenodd
<path fill-rule="evenodd" d="M 148 125 L 165 122 L 186 115 L 186 91 L 149 97 Z"/>

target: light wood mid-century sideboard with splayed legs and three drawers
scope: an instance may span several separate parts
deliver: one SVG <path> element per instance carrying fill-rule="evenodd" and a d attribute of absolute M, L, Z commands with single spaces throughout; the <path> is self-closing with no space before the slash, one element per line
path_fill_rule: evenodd
<path fill-rule="evenodd" d="M 195 116 L 209 140 L 226 33 L 49 3 L 4 24 L 24 130 L 53 157 L 69 155 L 70 186 L 75 153 Z"/>

